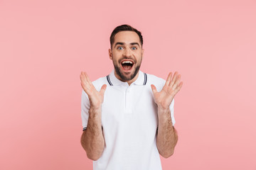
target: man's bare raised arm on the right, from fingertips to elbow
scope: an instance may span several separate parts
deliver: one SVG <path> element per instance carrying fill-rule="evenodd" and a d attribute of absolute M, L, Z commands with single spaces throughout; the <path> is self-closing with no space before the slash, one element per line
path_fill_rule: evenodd
<path fill-rule="evenodd" d="M 171 157 L 174 154 L 174 147 L 178 141 L 177 131 L 171 122 L 170 105 L 174 96 L 181 89 L 183 82 L 180 83 L 181 75 L 175 72 L 171 79 L 171 74 L 167 77 L 166 84 L 161 91 L 156 91 L 152 84 L 154 100 L 158 106 L 159 128 L 156 136 L 156 146 L 162 157 Z"/>

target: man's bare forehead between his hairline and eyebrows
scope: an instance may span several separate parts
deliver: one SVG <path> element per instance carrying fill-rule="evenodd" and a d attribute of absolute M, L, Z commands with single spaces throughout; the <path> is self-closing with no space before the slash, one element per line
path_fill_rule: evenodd
<path fill-rule="evenodd" d="M 116 35 L 114 35 L 114 43 L 115 42 L 124 42 L 124 43 L 131 43 L 131 42 L 137 42 L 139 43 L 139 35 L 135 33 L 134 31 L 120 31 Z M 139 43 L 140 44 L 140 43 Z"/>

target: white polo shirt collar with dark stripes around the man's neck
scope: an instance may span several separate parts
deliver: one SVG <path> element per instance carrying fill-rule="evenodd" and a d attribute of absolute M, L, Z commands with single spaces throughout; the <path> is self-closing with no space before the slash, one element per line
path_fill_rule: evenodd
<path fill-rule="evenodd" d="M 110 75 L 107 75 L 107 81 L 110 84 L 110 86 L 117 86 L 117 85 L 120 85 L 120 84 L 127 84 L 127 82 L 121 81 L 121 80 L 117 79 L 117 77 L 115 77 L 114 69 L 112 70 Z M 146 81 L 147 81 L 146 74 L 139 70 L 139 77 L 133 82 L 133 84 L 142 86 L 142 85 L 146 85 Z"/>

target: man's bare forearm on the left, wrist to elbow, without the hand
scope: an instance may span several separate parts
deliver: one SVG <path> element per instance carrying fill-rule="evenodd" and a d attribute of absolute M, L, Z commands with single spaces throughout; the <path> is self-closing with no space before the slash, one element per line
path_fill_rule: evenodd
<path fill-rule="evenodd" d="M 87 157 L 97 160 L 101 157 L 105 147 L 102 134 L 101 109 L 90 108 L 87 129 L 82 132 L 81 145 Z"/>

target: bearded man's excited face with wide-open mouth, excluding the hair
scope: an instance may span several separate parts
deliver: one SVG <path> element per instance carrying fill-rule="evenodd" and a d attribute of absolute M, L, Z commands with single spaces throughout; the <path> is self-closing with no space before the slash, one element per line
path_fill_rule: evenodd
<path fill-rule="evenodd" d="M 142 64 L 143 52 L 137 33 L 134 31 L 120 31 L 117 33 L 114 36 L 112 50 L 109 50 L 116 77 L 122 81 L 137 79 L 139 67 Z"/>

